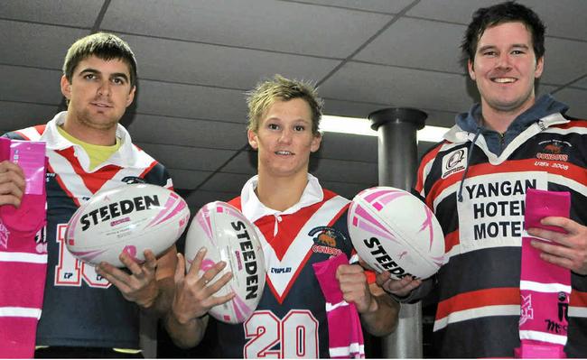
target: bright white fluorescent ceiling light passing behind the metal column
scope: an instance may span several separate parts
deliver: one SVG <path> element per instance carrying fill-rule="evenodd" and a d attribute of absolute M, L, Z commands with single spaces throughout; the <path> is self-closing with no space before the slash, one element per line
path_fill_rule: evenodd
<path fill-rule="evenodd" d="M 344 117 L 323 115 L 320 121 L 320 130 L 326 133 L 343 133 L 377 136 L 377 132 L 371 129 L 371 121 L 358 117 Z M 417 133 L 418 142 L 438 143 L 443 140 L 443 134 L 449 129 L 440 126 L 424 126 Z"/>

